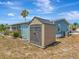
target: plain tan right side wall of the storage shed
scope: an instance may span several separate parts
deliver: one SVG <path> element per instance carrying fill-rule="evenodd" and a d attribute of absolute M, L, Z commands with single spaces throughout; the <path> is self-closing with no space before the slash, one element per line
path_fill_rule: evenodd
<path fill-rule="evenodd" d="M 56 41 L 56 27 L 55 25 L 45 24 L 45 39 L 44 45 L 49 45 Z"/>

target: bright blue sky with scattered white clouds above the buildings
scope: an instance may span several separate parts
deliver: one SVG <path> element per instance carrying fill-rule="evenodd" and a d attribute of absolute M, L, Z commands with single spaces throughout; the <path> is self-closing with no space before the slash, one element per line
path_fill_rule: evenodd
<path fill-rule="evenodd" d="M 21 11 L 29 11 L 27 21 L 34 16 L 56 20 L 66 18 L 79 23 L 79 0 L 0 0 L 0 24 L 24 22 Z"/>

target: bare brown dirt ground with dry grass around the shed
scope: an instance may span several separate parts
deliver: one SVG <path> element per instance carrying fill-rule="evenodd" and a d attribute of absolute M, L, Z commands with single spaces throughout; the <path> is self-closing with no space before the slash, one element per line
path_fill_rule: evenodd
<path fill-rule="evenodd" d="M 46 49 L 0 37 L 0 59 L 79 59 L 79 35 L 60 38 Z"/>

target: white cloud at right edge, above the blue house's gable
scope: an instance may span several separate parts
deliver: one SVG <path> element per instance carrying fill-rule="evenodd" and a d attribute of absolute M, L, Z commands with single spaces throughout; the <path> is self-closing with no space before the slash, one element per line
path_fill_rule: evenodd
<path fill-rule="evenodd" d="M 68 20 L 79 20 L 79 11 L 70 11 L 70 12 L 63 12 L 59 14 L 61 17 L 64 17 Z"/>

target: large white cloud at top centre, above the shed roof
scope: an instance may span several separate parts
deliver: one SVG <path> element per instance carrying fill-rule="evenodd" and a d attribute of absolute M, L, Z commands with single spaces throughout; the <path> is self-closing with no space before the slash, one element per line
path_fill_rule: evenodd
<path fill-rule="evenodd" d="M 35 5 L 38 7 L 37 11 L 43 13 L 50 13 L 54 9 L 50 0 L 36 0 Z"/>

